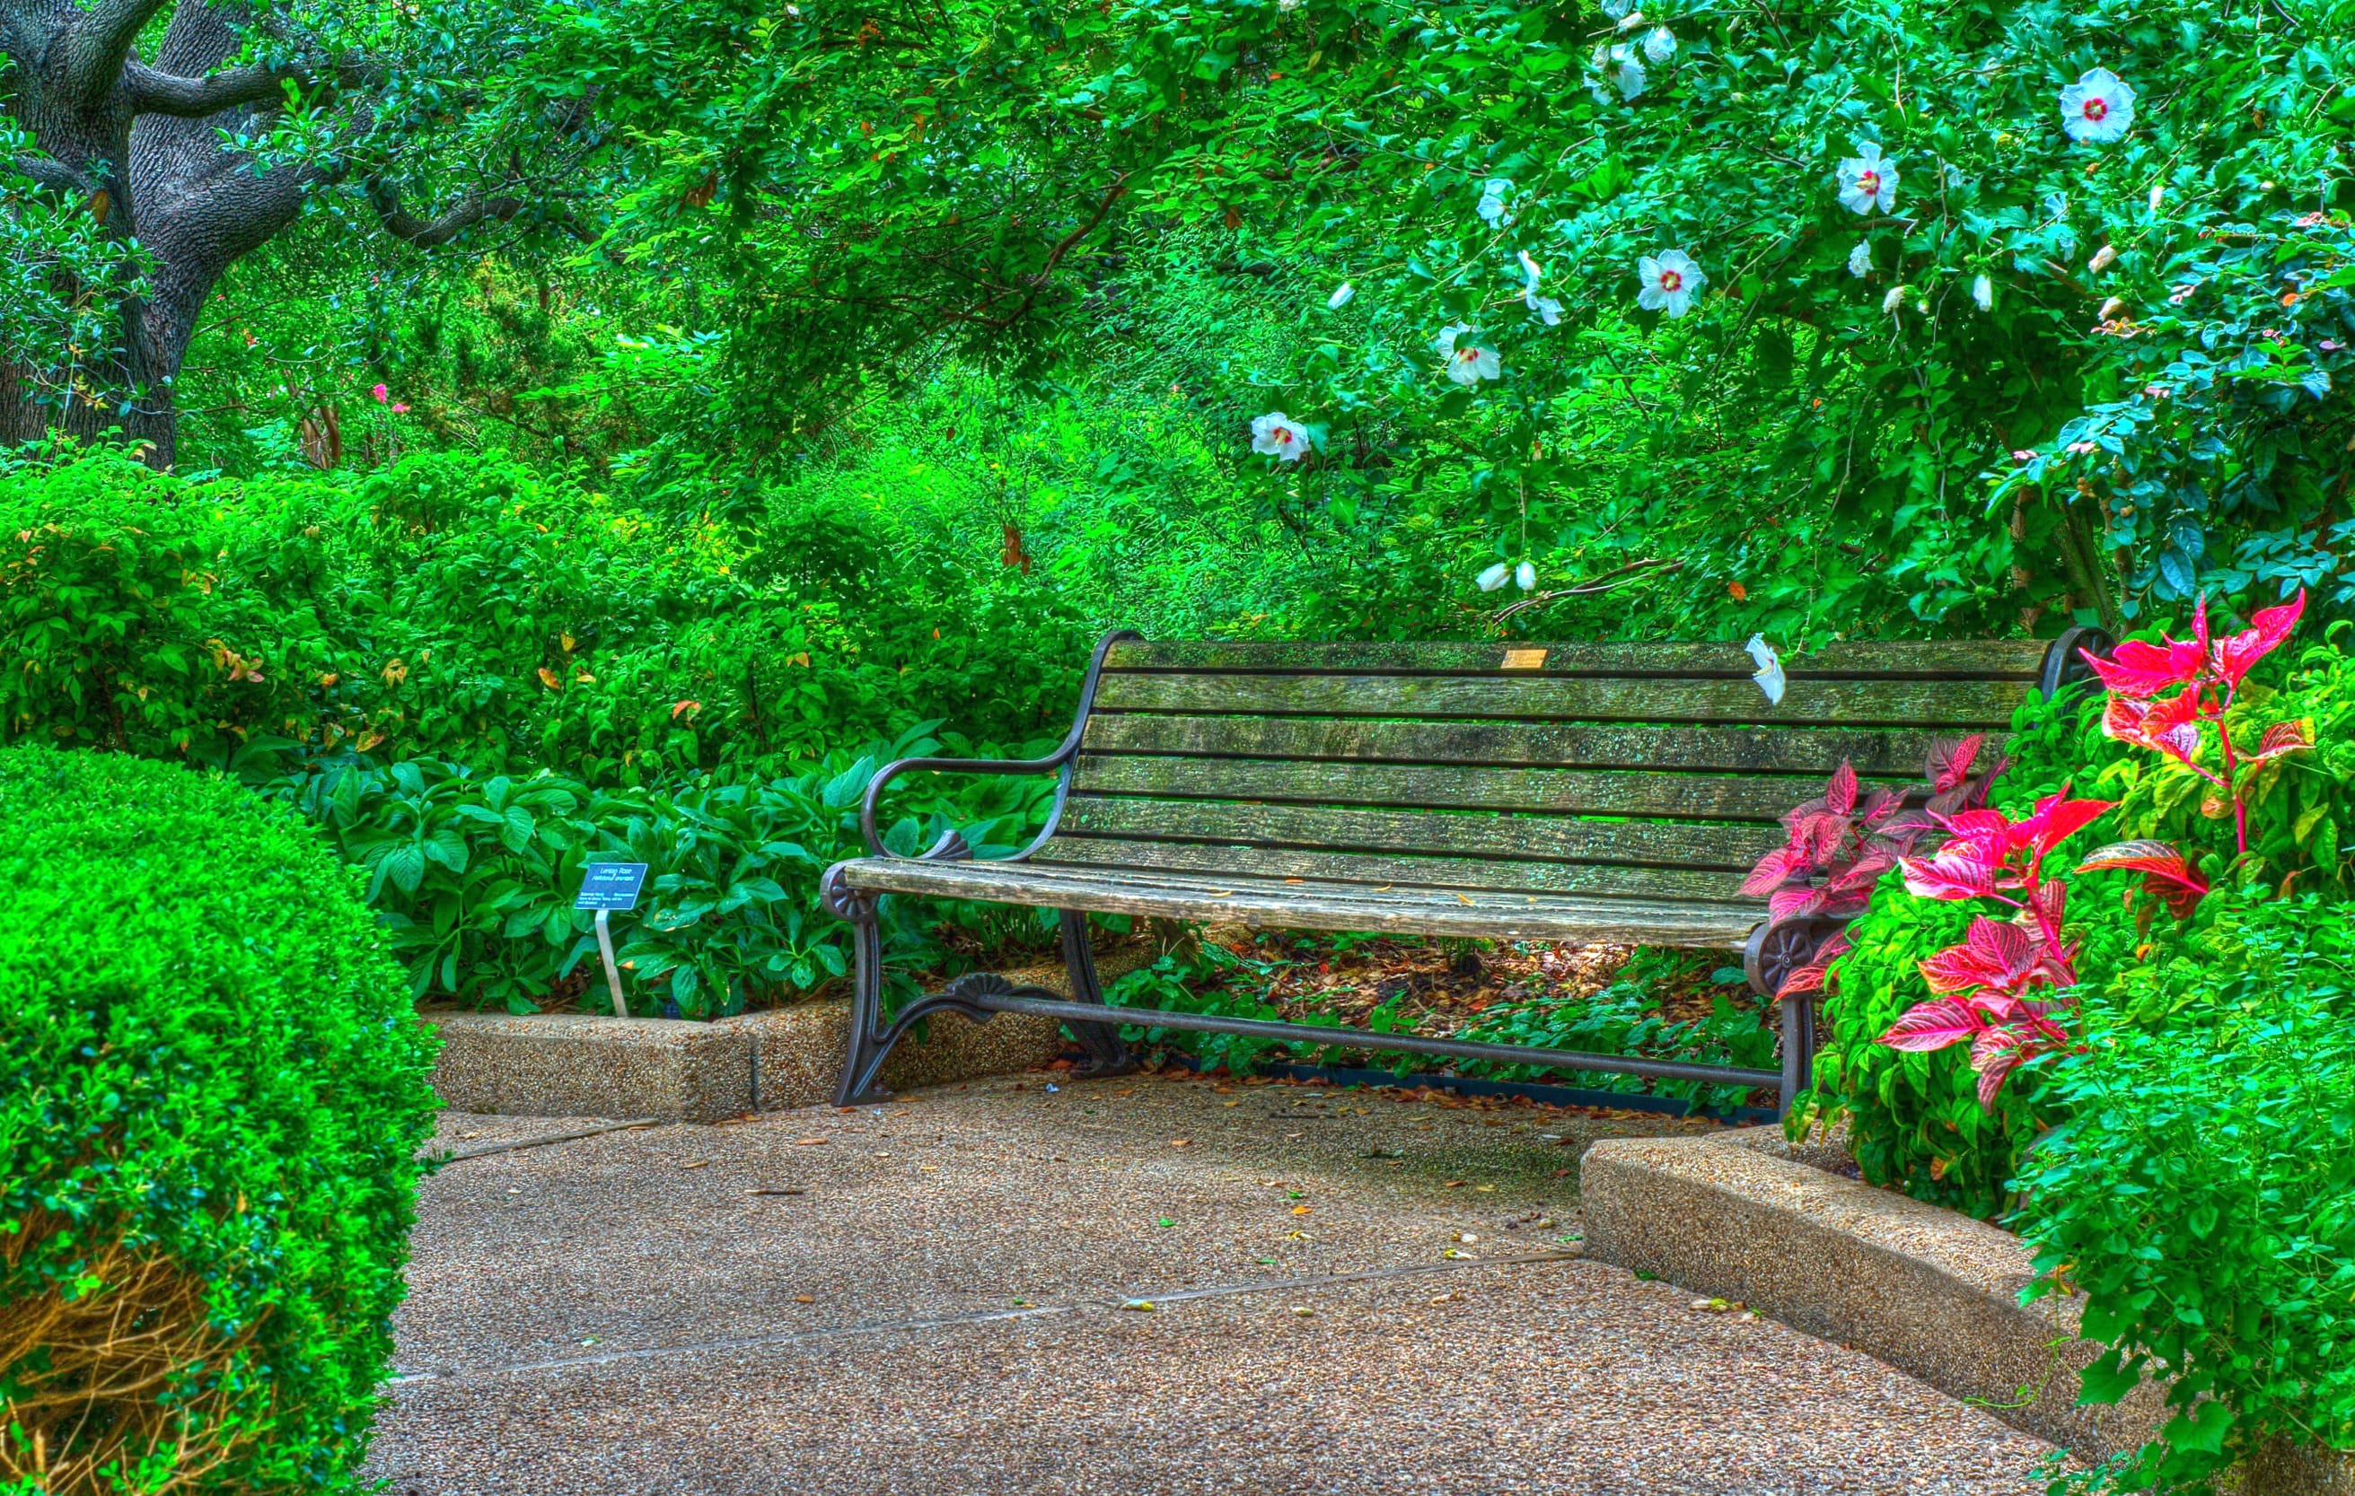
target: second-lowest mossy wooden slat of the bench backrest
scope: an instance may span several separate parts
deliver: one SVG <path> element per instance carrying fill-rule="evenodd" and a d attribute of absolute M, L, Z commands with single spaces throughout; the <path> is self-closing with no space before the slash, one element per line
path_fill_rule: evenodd
<path fill-rule="evenodd" d="M 1187 840 L 1321 851 L 1507 856 L 1568 863 L 1750 870 L 1783 844 L 1780 826 L 1724 821 L 1580 821 L 1479 812 L 1394 812 L 1331 804 L 1074 797 L 1062 835 Z"/>

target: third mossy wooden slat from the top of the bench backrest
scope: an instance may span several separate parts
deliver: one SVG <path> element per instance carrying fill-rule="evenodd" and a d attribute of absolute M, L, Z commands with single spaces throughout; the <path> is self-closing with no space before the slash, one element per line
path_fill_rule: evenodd
<path fill-rule="evenodd" d="M 1691 769 L 1912 779 L 1938 734 L 1813 727 L 1578 727 L 1564 722 L 1361 722 L 1090 713 L 1088 753 L 1178 753 L 1462 767 Z M 1804 795 L 1802 795 L 1804 800 Z M 1797 802 L 1797 800 L 1795 800 Z"/>

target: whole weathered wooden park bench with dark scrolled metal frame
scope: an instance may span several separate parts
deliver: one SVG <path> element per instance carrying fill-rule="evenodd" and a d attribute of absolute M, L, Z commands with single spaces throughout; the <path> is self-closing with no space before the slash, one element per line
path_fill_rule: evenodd
<path fill-rule="evenodd" d="M 1806 1084 L 1813 1002 L 1783 1004 L 1783 1068 L 1477 1044 L 1161 1009 L 1109 1009 L 1088 913 L 1239 920 L 1495 941 L 1743 950 L 1773 995 L 1832 934 L 1766 929 L 1740 884 L 1780 844 L 1776 819 L 1842 760 L 1919 776 L 1936 736 L 1999 739 L 2030 689 L 2082 670 L 2084 630 L 2054 642 L 1870 642 L 1787 659 L 1769 703 L 1740 645 L 1097 645 L 1062 746 L 1039 760 L 914 757 L 867 788 L 874 856 L 827 870 L 855 931 L 850 1058 L 838 1103 L 876 1096 L 883 1056 L 926 1014 L 1064 1021 L 1090 1073 L 1126 1066 L 1119 1023 L 1566 1070 Z M 923 856 L 876 837 L 876 797 L 914 769 L 1055 774 L 1046 828 L 1010 859 L 944 835 Z M 1060 910 L 1069 997 L 968 974 L 885 1023 L 876 899 Z"/>

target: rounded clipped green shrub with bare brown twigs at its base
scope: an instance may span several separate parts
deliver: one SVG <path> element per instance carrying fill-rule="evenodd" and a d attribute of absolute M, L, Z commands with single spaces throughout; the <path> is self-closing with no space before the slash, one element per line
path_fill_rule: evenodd
<path fill-rule="evenodd" d="M 0 750 L 0 1480 L 344 1487 L 433 1113 L 353 875 L 221 779 Z"/>

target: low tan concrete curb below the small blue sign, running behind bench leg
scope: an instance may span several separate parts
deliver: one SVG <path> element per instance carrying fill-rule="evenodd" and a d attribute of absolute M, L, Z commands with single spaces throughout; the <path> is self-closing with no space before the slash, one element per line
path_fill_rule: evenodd
<path fill-rule="evenodd" d="M 1145 964 L 1128 948 L 1097 960 L 1100 976 Z M 1006 971 L 1015 983 L 1067 993 L 1062 962 Z M 796 1007 L 702 1023 L 596 1014 L 426 1014 L 440 1030 L 433 1091 L 464 1113 L 511 1117 L 655 1117 L 718 1122 L 744 1113 L 834 1098 L 850 1044 L 850 1002 Z M 893 1049 L 883 1084 L 949 1084 L 1031 1070 L 1060 1056 L 1053 1019 L 999 1014 L 973 1023 L 935 1014 L 923 1042 Z"/>

